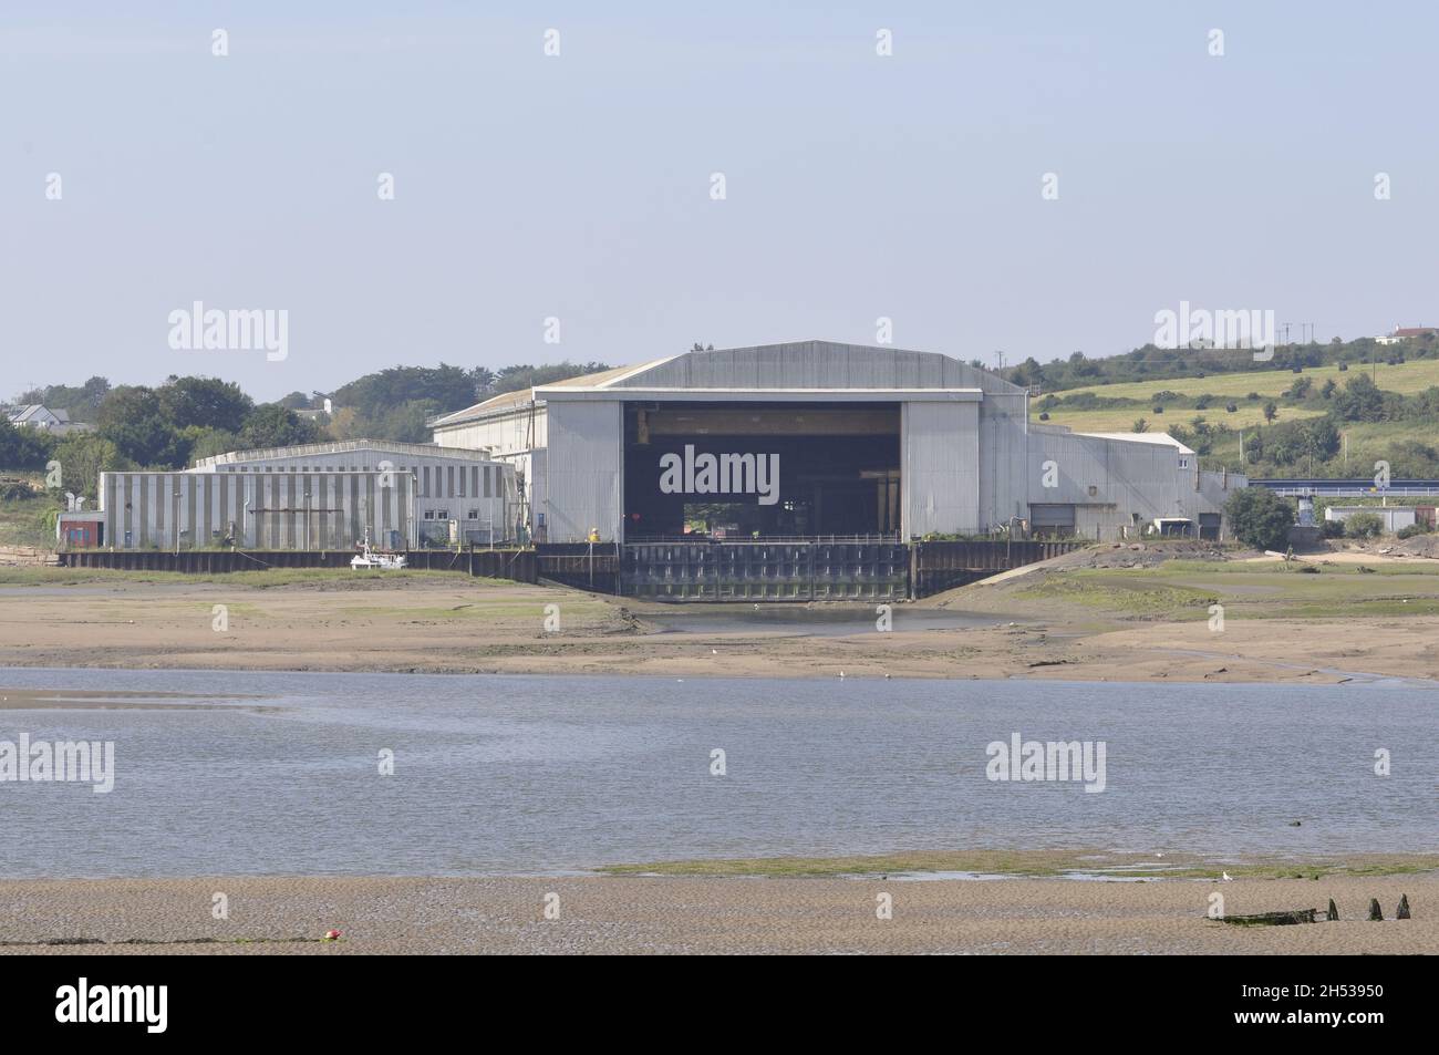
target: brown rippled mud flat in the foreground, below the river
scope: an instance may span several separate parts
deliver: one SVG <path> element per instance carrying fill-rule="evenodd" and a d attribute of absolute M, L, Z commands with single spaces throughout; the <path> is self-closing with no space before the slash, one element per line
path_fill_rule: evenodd
<path fill-rule="evenodd" d="M 1322 908 L 1337 923 L 1227 927 Z M 227 920 L 216 920 L 223 894 Z M 891 918 L 879 918 L 881 895 Z M 1402 895 L 1412 920 L 1393 920 Z M 1384 923 L 1364 920 L 1379 898 Z M 545 918 L 545 905 L 558 918 Z M 0 882 L 0 953 L 1439 953 L 1439 877 L 1072 882 L 856 879 L 213 878 Z M 328 930 L 338 941 L 319 941 Z M 135 943 L 135 940 L 140 943 Z M 88 944 L 78 944 L 85 940 Z M 105 944 L 96 944 L 102 941 Z M 52 944 L 53 943 L 53 944 Z"/>

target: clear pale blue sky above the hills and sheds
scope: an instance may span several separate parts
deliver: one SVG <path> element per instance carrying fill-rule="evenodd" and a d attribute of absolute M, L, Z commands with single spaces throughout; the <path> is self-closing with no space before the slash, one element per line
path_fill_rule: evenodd
<path fill-rule="evenodd" d="M 0 396 L 203 373 L 275 399 L 872 344 L 878 317 L 1045 361 L 1144 344 L 1181 299 L 1321 340 L 1439 322 L 1430 6 L 118 7 L 0 9 Z M 173 351 L 196 299 L 288 309 L 289 357 Z"/>

